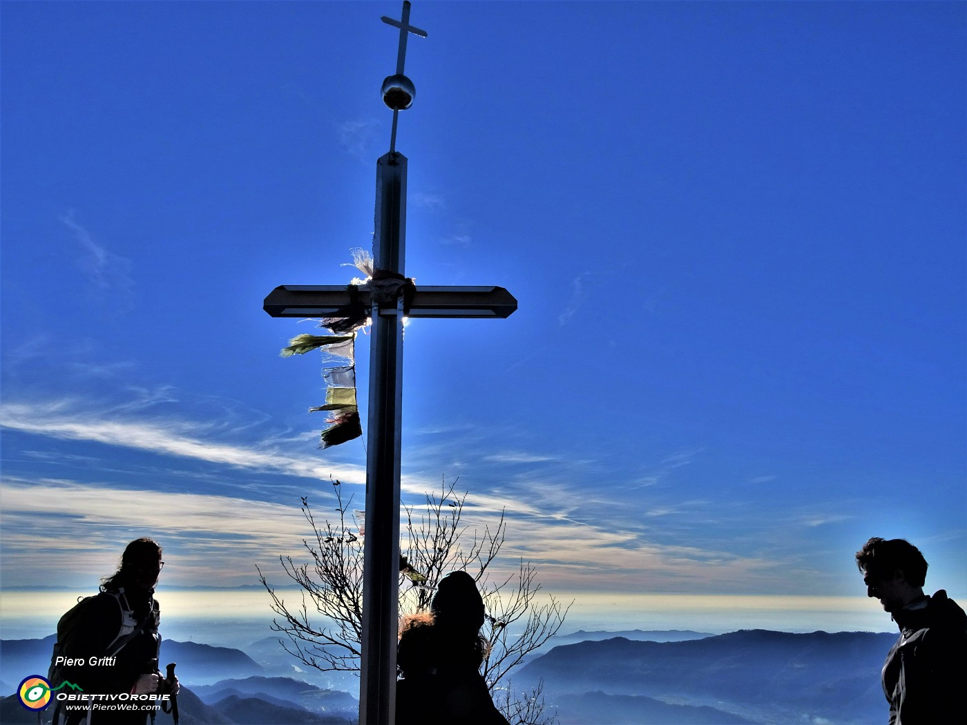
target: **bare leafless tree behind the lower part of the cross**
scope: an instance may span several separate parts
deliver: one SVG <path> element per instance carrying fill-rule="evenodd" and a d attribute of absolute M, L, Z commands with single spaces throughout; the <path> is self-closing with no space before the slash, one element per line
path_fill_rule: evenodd
<path fill-rule="evenodd" d="M 571 604 L 553 596 L 539 599 L 537 570 L 521 561 L 516 573 L 491 580 L 507 536 L 502 511 L 483 533 L 462 523 L 467 494 L 456 492 L 459 478 L 441 478 L 439 492 L 427 493 L 425 506 L 403 507 L 400 545 L 399 614 L 427 611 L 440 580 L 454 570 L 474 577 L 484 597 L 486 619 L 481 636 L 486 642 L 482 674 L 498 709 L 512 725 L 550 725 L 557 718 L 545 712 L 543 683 L 530 692 L 514 693 L 511 671 L 536 652 L 560 629 Z M 286 602 L 259 570 L 259 580 L 272 598 L 278 615 L 272 628 L 287 636 L 282 647 L 309 667 L 322 671 L 360 669 L 363 623 L 363 532 L 354 532 L 350 506 L 343 502 L 341 485 L 333 481 L 337 516 L 316 523 L 308 500 L 302 510 L 313 536 L 304 539 L 310 563 L 297 565 L 279 557 L 286 575 L 301 588 L 301 601 Z M 349 511 L 347 519 L 347 511 Z"/>

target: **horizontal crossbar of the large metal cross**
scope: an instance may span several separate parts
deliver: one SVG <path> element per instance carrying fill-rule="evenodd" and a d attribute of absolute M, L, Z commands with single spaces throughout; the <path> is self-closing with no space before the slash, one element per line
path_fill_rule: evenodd
<path fill-rule="evenodd" d="M 365 287 L 350 293 L 345 285 L 283 284 L 269 293 L 263 309 L 273 317 L 337 317 L 354 296 L 366 307 L 372 304 Z M 417 287 L 406 315 L 503 319 L 516 308 L 516 299 L 503 287 Z"/>

